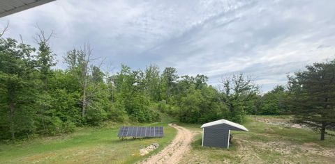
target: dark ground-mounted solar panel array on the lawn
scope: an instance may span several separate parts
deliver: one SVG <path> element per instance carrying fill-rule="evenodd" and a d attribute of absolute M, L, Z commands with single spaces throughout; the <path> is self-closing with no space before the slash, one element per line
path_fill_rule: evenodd
<path fill-rule="evenodd" d="M 163 137 L 162 126 L 122 126 L 119 130 L 118 137 Z"/>

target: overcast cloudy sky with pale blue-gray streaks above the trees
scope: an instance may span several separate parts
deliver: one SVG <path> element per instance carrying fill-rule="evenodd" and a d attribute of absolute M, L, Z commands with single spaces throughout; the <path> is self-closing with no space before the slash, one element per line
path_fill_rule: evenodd
<path fill-rule="evenodd" d="M 57 67 L 66 51 L 89 42 L 94 56 L 119 69 L 150 64 L 179 75 L 243 72 L 262 91 L 285 84 L 304 65 L 335 58 L 335 1 L 329 0 L 57 0 L 0 18 L 5 37 L 33 44 L 36 24 L 54 31 Z"/>

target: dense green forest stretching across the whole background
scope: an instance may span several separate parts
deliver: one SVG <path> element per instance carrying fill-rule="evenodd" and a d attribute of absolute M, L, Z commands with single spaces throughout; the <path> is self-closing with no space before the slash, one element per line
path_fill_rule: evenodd
<path fill-rule="evenodd" d="M 144 70 L 121 65 L 110 74 L 101 69 L 102 62 L 96 64 L 89 44 L 68 51 L 60 61 L 67 68 L 55 69 L 49 39 L 37 35 L 36 48 L 0 39 L 2 140 L 69 133 L 105 121 L 160 122 L 161 113 L 197 124 L 222 118 L 244 122 L 245 115 L 296 115 L 297 122 L 323 135 L 335 126 L 334 61 L 308 66 L 288 77 L 287 86 L 261 94 L 244 74 L 224 77 L 219 86 L 209 85 L 205 75 L 181 76 L 174 67 L 161 72 L 157 65 Z"/>

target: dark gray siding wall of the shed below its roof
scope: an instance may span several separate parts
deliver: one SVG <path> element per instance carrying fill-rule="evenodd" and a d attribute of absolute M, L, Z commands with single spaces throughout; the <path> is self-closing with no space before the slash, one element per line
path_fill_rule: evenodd
<path fill-rule="evenodd" d="M 203 146 L 228 148 L 229 130 L 204 128 Z"/>

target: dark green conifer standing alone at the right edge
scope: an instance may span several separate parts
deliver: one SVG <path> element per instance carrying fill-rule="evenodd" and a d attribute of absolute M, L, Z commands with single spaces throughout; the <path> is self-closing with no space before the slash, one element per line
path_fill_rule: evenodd
<path fill-rule="evenodd" d="M 335 126 L 335 60 L 295 72 L 288 86 L 295 122 L 320 131 L 320 140 L 325 140 L 326 130 Z"/>

